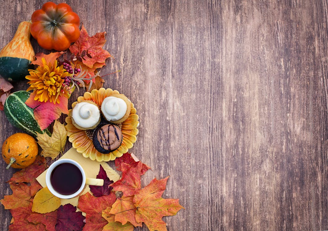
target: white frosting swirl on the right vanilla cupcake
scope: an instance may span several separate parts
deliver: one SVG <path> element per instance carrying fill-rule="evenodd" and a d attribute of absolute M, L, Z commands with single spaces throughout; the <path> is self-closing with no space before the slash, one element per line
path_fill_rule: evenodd
<path fill-rule="evenodd" d="M 101 112 L 108 121 L 116 121 L 123 118 L 126 111 L 126 102 L 114 96 L 106 97 L 101 104 Z"/>

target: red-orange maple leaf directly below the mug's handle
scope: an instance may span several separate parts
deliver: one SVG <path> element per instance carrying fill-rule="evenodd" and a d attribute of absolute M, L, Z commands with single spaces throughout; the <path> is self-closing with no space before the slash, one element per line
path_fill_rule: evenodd
<path fill-rule="evenodd" d="M 113 192 L 109 195 L 94 197 L 89 192 L 79 197 L 78 208 L 86 213 L 86 224 L 83 231 L 101 231 L 108 223 L 102 217 L 102 211 L 111 207 L 116 196 Z"/>

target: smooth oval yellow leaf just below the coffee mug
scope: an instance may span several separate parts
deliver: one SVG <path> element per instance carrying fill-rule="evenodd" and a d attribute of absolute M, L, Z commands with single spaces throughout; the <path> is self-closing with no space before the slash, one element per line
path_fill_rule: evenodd
<path fill-rule="evenodd" d="M 47 187 L 40 189 L 34 197 L 32 211 L 37 213 L 49 213 L 55 211 L 61 205 L 60 198 L 52 195 Z"/>

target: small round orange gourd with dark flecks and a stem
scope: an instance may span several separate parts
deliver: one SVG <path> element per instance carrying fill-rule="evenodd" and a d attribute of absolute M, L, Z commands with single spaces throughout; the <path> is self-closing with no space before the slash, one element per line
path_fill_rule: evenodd
<path fill-rule="evenodd" d="M 2 145 L 2 157 L 9 167 L 24 169 L 35 161 L 38 145 L 31 135 L 15 133 L 9 136 Z"/>

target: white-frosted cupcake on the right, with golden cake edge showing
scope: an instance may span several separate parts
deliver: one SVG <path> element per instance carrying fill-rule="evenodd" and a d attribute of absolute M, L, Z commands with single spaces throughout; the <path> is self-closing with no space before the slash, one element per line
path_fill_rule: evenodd
<path fill-rule="evenodd" d="M 131 102 L 123 94 L 113 94 L 104 98 L 101 112 L 107 121 L 119 124 L 126 120 L 131 112 Z"/>

